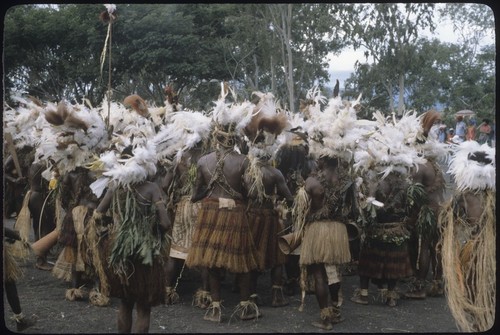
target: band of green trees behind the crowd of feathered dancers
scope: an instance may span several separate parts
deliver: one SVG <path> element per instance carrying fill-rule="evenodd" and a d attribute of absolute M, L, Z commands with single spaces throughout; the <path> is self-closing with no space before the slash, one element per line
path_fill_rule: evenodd
<path fill-rule="evenodd" d="M 218 83 L 229 81 L 241 98 L 270 91 L 297 111 L 314 85 L 329 94 L 335 78 L 329 78 L 328 55 L 352 46 L 367 50 L 367 59 L 357 63 L 343 96 L 362 93 L 366 116 L 375 109 L 423 112 L 436 106 L 491 116 L 495 47 L 483 40 L 494 19 L 484 7 L 119 4 L 110 26 L 99 19 L 102 4 L 17 5 L 4 17 L 5 99 L 24 92 L 97 105 L 111 86 L 118 101 L 135 93 L 161 105 L 164 88 L 172 85 L 185 107 L 208 109 Z M 438 12 L 462 32 L 458 43 L 422 35 L 433 31 Z"/>

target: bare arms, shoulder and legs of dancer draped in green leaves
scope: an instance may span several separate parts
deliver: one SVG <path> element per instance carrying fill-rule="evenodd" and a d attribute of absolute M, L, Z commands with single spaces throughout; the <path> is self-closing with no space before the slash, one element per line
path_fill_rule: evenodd
<path fill-rule="evenodd" d="M 141 196 L 141 201 L 138 201 L 138 206 L 143 206 L 144 210 L 151 203 L 156 204 L 156 211 L 158 215 L 158 225 L 161 232 L 166 233 L 170 227 L 170 217 L 167 212 L 167 208 L 163 203 L 162 190 L 160 187 L 153 182 L 144 181 L 133 185 L 135 191 Z M 103 199 L 96 208 L 97 212 L 105 213 L 111 205 L 113 200 L 113 190 L 108 189 Z M 142 204 L 142 202 L 147 201 L 148 204 Z M 135 323 L 134 332 L 137 333 L 147 333 L 149 331 L 149 325 L 151 321 L 151 306 L 147 303 L 136 302 L 132 298 L 122 298 L 120 301 L 120 307 L 118 310 L 118 332 L 119 333 L 130 333 L 132 331 L 132 312 L 134 306 L 137 310 L 137 318 Z"/>

